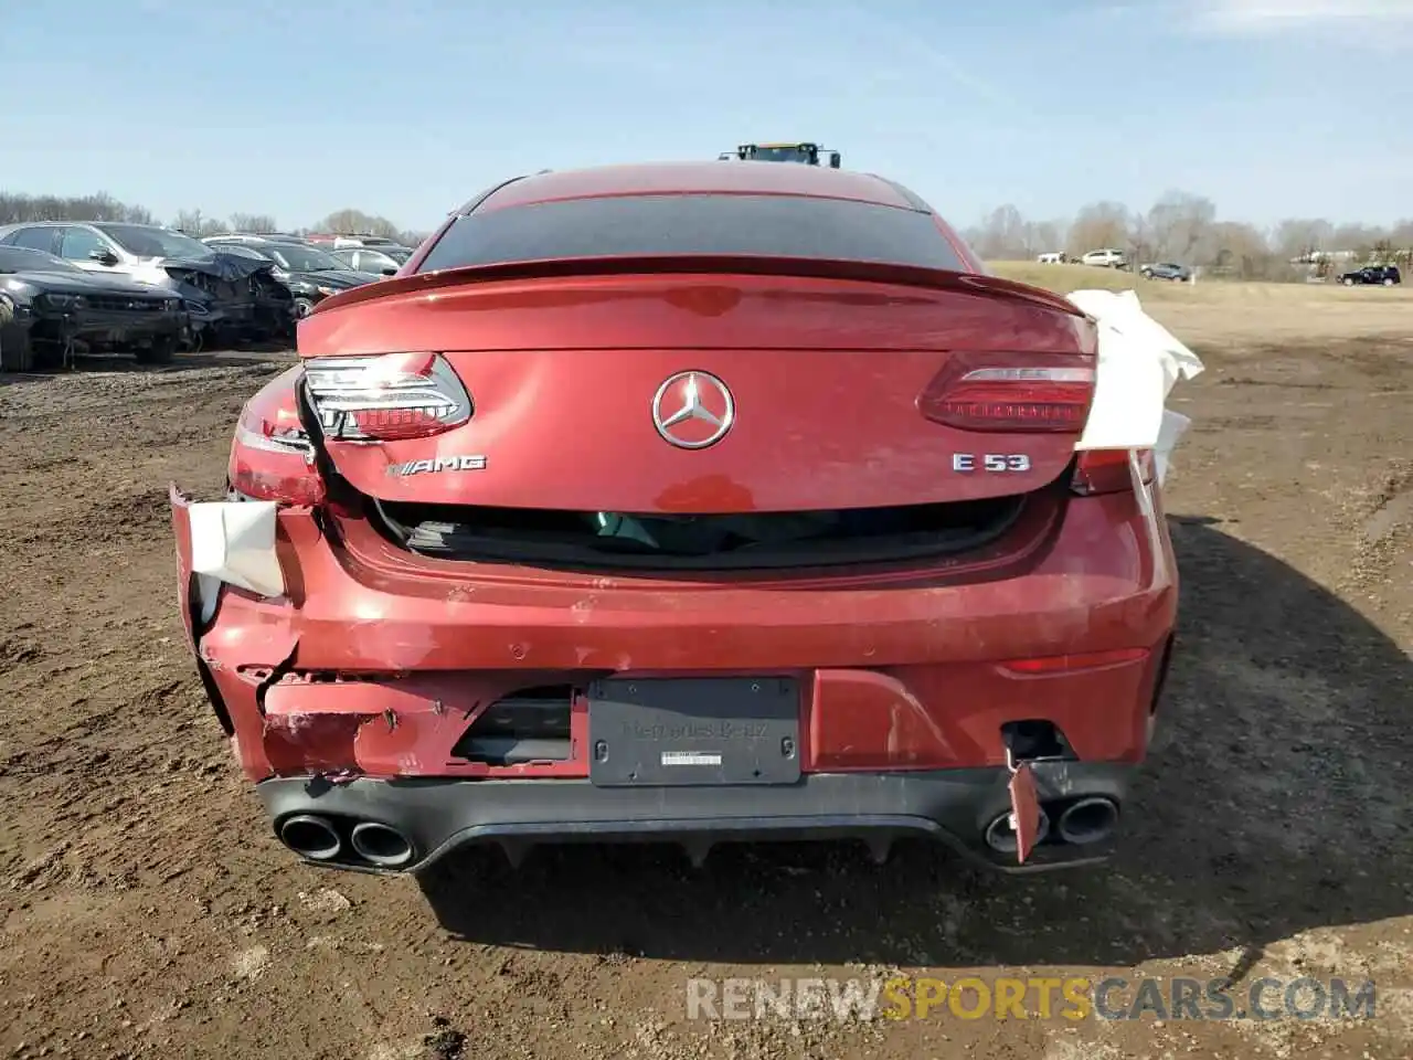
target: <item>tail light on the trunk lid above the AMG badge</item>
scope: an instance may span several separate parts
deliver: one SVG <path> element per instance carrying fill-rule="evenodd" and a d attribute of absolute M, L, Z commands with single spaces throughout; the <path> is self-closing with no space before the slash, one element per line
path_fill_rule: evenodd
<path fill-rule="evenodd" d="M 439 353 L 312 358 L 304 387 L 329 441 L 428 438 L 472 414 L 471 394 Z"/>

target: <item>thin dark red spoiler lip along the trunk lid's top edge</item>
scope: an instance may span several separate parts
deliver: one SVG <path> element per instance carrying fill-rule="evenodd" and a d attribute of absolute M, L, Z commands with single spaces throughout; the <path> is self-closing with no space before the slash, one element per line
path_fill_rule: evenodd
<path fill-rule="evenodd" d="M 986 273 L 952 271 L 945 269 L 924 269 L 920 266 L 890 264 L 885 261 L 838 261 L 832 259 L 776 257 L 766 254 L 731 256 L 684 256 L 684 254 L 634 254 L 612 257 L 561 257 L 531 261 L 506 261 L 496 264 L 442 269 L 432 273 L 394 276 L 377 283 L 355 287 L 333 294 L 321 301 L 309 318 L 325 312 L 353 308 L 367 302 L 384 301 L 398 295 L 417 295 L 442 291 L 451 287 L 469 287 L 480 283 L 514 280 L 586 278 L 603 276 L 630 276 L 653 273 L 657 276 L 709 274 L 762 276 L 781 278 L 853 280 L 859 283 L 894 284 L 930 290 L 962 291 L 989 297 L 1013 298 L 1039 305 L 1067 317 L 1087 319 L 1088 314 L 1063 295 L 1040 287 L 1003 280 Z"/>

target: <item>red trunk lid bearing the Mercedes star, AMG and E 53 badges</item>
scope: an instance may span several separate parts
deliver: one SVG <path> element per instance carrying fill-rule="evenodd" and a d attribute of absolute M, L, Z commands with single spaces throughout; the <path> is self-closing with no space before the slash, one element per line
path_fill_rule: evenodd
<path fill-rule="evenodd" d="M 924 417 L 920 396 L 948 366 L 1092 369 L 1085 318 L 989 277 L 889 270 L 879 283 L 856 278 L 859 269 L 879 273 L 408 277 L 329 300 L 301 324 L 300 352 L 437 352 L 465 384 L 473 414 L 462 425 L 328 440 L 338 471 L 384 500 L 784 512 L 969 500 L 1051 482 L 1080 425 L 961 430 Z M 705 417 L 678 416 L 692 387 Z M 701 447 L 728 408 L 728 430 Z"/>

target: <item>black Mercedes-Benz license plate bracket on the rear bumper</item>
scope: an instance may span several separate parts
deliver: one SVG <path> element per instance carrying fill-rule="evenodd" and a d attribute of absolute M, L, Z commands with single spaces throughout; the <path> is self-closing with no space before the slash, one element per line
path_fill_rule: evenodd
<path fill-rule="evenodd" d="M 598 787 L 791 784 L 800 779 L 793 677 L 603 678 L 588 688 Z"/>

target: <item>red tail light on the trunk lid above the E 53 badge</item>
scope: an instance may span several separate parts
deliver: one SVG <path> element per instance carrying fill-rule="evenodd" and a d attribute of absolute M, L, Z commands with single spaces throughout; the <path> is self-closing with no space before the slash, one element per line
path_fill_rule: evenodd
<path fill-rule="evenodd" d="M 1000 365 L 978 365 L 958 355 L 923 390 L 918 411 L 964 431 L 1082 431 L 1094 400 L 1094 366 L 1024 360 L 1016 355 Z"/>

